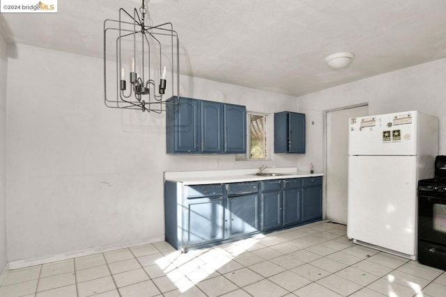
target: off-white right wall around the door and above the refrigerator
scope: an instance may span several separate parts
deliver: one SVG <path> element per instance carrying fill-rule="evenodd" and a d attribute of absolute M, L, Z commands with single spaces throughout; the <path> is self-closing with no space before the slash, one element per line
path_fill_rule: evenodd
<path fill-rule="evenodd" d="M 369 104 L 369 115 L 412 110 L 436 115 L 440 120 L 439 154 L 446 154 L 445 82 L 446 59 L 441 59 L 299 97 L 299 111 L 307 115 L 307 153 L 300 157 L 299 168 L 313 162 L 316 170 L 325 170 L 324 112 L 363 103 Z M 324 190 L 324 205 L 325 194 Z M 341 201 L 329 204 L 337 203 Z"/>

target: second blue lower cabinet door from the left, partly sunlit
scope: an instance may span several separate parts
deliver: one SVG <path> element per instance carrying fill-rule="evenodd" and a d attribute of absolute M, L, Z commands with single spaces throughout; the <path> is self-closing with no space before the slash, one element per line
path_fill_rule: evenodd
<path fill-rule="evenodd" d="M 240 236 L 259 230 L 259 195 L 228 198 L 228 237 Z"/>

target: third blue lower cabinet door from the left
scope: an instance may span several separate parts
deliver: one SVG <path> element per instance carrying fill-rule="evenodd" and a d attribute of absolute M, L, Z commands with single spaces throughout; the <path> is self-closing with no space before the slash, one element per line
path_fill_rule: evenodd
<path fill-rule="evenodd" d="M 282 225 L 281 191 L 261 193 L 261 230 L 268 230 Z"/>

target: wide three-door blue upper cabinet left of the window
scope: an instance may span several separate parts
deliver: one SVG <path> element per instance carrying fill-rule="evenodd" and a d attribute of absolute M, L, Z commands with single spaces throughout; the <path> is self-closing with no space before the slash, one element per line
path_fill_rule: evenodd
<path fill-rule="evenodd" d="M 180 97 L 166 113 L 168 154 L 246 152 L 245 106 Z"/>

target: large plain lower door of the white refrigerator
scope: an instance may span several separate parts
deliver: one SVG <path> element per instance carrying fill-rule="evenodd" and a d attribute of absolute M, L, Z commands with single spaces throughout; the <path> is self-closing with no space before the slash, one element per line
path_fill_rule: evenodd
<path fill-rule="evenodd" d="M 416 255 L 416 169 L 417 156 L 348 156 L 348 238 Z"/>

